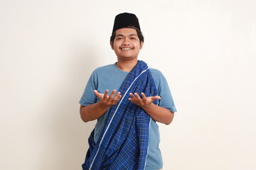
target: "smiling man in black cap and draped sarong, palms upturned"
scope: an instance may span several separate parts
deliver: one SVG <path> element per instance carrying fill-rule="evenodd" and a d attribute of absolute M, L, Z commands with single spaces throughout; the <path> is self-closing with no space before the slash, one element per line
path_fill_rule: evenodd
<path fill-rule="evenodd" d="M 156 122 L 169 125 L 176 108 L 163 74 L 138 60 L 143 44 L 137 16 L 117 15 L 110 38 L 117 62 L 95 69 L 80 99 L 82 120 L 97 119 L 84 170 L 162 169 Z"/>

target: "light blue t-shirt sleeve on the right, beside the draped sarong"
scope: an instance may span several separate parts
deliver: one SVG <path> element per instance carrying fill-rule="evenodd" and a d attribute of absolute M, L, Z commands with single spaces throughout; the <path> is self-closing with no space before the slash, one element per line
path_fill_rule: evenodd
<path fill-rule="evenodd" d="M 154 69 L 152 76 L 154 78 L 159 96 L 161 96 L 161 99 L 159 100 L 159 106 L 167 108 L 173 113 L 176 112 L 174 99 L 171 95 L 171 90 L 169 89 L 169 85 L 166 81 L 166 78 L 164 77 L 164 74 L 162 74 L 159 70 Z"/>

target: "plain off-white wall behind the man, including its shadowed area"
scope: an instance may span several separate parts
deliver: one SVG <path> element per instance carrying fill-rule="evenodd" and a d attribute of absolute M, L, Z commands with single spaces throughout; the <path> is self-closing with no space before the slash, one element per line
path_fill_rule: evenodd
<path fill-rule="evenodd" d="M 114 16 L 135 13 L 139 60 L 164 73 L 178 113 L 159 125 L 164 169 L 256 169 L 253 0 L 0 0 L 0 169 L 81 169 L 95 122 L 78 101 L 112 64 Z"/>

